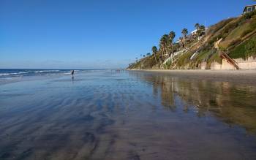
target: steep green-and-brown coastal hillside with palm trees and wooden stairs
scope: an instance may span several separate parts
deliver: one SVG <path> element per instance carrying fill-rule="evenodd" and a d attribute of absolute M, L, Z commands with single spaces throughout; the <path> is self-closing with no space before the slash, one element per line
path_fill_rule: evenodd
<path fill-rule="evenodd" d="M 159 49 L 152 47 L 127 69 L 256 69 L 256 12 L 195 28 L 188 35 L 184 28 L 177 42 L 173 31 L 163 35 Z"/>

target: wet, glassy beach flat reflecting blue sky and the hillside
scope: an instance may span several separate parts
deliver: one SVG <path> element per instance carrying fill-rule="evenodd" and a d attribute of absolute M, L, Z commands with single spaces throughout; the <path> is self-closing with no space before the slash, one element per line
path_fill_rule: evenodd
<path fill-rule="evenodd" d="M 113 71 L 2 84 L 0 159 L 256 159 L 256 85 Z"/>

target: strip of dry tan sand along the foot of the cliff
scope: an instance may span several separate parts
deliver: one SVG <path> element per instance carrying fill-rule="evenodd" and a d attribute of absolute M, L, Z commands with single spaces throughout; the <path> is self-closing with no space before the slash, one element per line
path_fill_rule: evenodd
<path fill-rule="evenodd" d="M 148 72 L 165 74 L 174 77 L 195 78 L 200 80 L 230 81 L 238 83 L 256 84 L 256 70 L 169 70 L 145 69 L 128 70 L 130 72 Z"/>

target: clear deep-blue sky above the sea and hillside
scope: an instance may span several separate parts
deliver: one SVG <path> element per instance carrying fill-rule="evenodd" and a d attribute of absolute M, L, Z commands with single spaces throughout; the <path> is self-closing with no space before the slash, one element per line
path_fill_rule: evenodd
<path fill-rule="evenodd" d="M 0 68 L 107 69 L 241 14 L 251 0 L 0 0 Z"/>

